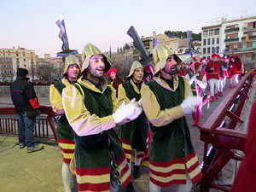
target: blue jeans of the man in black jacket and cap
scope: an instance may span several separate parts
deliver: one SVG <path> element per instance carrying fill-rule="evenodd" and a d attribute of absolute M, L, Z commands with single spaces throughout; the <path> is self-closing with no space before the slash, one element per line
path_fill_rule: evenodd
<path fill-rule="evenodd" d="M 36 117 L 27 117 L 26 111 L 19 112 L 19 143 L 26 143 L 28 149 L 34 148 L 34 127 Z"/>

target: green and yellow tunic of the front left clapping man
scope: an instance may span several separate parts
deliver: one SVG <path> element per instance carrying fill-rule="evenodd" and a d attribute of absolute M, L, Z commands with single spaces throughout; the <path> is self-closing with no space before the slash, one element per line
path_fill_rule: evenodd
<path fill-rule="evenodd" d="M 118 108 L 113 87 L 102 79 L 102 90 L 89 80 L 79 79 L 63 91 L 67 119 L 76 132 L 75 162 L 79 191 L 109 191 L 111 159 L 121 172 L 124 186 L 131 182 L 131 172 L 122 143 L 113 131 L 112 113 Z"/>

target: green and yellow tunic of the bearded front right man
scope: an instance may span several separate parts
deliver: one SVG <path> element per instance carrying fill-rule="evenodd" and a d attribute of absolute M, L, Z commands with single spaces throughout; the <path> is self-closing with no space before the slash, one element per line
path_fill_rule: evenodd
<path fill-rule="evenodd" d="M 186 170 L 192 183 L 201 179 L 201 169 L 190 139 L 181 103 L 191 95 L 189 82 L 173 78 L 173 89 L 154 77 L 142 87 L 143 110 L 151 125 L 149 148 L 150 181 L 160 187 L 186 183 Z"/>

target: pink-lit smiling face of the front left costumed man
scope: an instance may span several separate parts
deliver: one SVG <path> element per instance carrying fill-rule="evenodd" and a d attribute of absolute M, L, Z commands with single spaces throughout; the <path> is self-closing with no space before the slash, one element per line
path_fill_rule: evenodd
<path fill-rule="evenodd" d="M 88 69 L 93 78 L 103 77 L 105 71 L 105 61 L 102 54 L 96 54 L 90 57 Z"/>

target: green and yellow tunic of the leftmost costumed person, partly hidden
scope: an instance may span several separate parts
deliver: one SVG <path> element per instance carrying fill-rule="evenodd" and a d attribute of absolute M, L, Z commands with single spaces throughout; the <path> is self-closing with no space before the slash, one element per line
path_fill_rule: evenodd
<path fill-rule="evenodd" d="M 71 85 L 69 81 L 63 78 L 60 82 L 56 84 L 51 84 L 49 87 L 49 101 L 51 107 L 56 114 L 61 114 L 61 118 L 58 120 L 56 136 L 57 141 L 61 147 L 63 162 L 67 164 L 70 164 L 74 153 L 74 131 L 72 127 L 68 124 L 66 115 L 64 113 L 61 94 L 62 90 L 69 85 Z"/>

